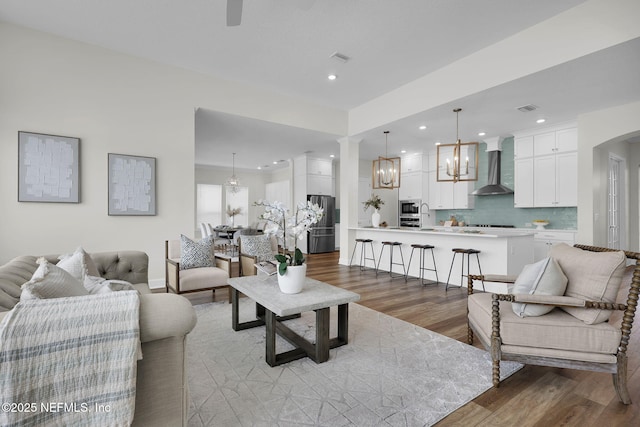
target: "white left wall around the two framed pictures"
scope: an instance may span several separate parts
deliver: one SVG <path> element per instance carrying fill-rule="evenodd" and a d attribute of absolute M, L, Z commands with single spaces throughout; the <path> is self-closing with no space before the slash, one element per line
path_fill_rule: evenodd
<path fill-rule="evenodd" d="M 164 240 L 194 232 L 198 107 L 345 135 L 344 111 L 0 23 L 0 263 L 136 249 L 164 279 Z M 17 133 L 78 137 L 81 203 L 17 202 Z M 156 216 L 107 215 L 107 153 L 157 158 Z"/>

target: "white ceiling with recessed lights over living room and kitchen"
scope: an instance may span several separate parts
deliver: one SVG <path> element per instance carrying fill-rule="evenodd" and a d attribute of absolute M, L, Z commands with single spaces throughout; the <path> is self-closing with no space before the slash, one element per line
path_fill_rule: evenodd
<path fill-rule="evenodd" d="M 226 0 L 0 0 L 0 20 L 347 110 L 583 2 L 245 0 L 242 24 L 227 27 Z M 335 51 L 351 60 L 329 58 Z M 636 39 L 368 131 L 361 152 L 381 154 L 387 129 L 390 153 L 451 141 L 455 107 L 465 140 L 531 128 L 537 114 L 574 120 L 640 99 L 638 75 Z M 540 109 L 515 110 L 529 103 Z M 255 169 L 339 154 L 339 135 L 202 109 L 196 120 L 197 163 L 228 166 L 237 152 L 237 167 Z"/>

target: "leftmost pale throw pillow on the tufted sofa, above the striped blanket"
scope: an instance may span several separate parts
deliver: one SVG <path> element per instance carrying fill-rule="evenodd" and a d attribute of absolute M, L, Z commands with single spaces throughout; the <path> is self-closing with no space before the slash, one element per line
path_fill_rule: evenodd
<path fill-rule="evenodd" d="M 27 283 L 22 285 L 20 299 L 46 299 L 89 295 L 82 283 L 62 268 L 44 258 Z"/>

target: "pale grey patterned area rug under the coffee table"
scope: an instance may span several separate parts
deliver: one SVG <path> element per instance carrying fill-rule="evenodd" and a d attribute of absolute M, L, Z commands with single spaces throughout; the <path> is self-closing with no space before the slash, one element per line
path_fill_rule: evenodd
<path fill-rule="evenodd" d="M 241 321 L 253 302 L 241 300 Z M 425 426 L 491 387 L 483 350 L 368 309 L 349 308 L 349 344 L 329 361 L 270 367 L 264 327 L 234 332 L 231 305 L 195 307 L 188 338 L 189 426 Z M 335 336 L 337 313 L 331 313 Z M 314 313 L 287 325 L 314 337 Z M 292 347 L 278 337 L 277 351 Z M 506 378 L 522 365 L 502 362 Z"/>

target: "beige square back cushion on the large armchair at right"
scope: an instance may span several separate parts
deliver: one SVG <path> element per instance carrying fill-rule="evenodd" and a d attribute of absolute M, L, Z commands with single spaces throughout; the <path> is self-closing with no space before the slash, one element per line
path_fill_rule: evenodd
<path fill-rule="evenodd" d="M 566 296 L 615 302 L 626 265 L 623 251 L 589 252 L 561 243 L 551 248 L 551 257 L 569 279 Z M 562 309 L 588 325 L 605 322 L 611 316 L 611 310 Z"/>

